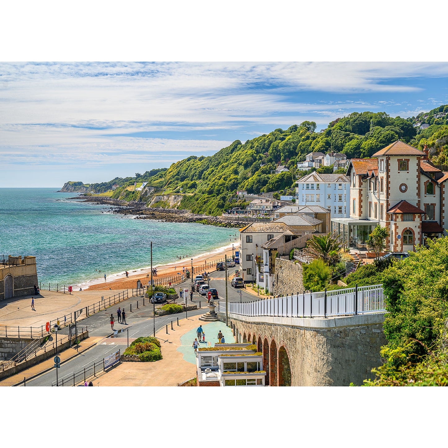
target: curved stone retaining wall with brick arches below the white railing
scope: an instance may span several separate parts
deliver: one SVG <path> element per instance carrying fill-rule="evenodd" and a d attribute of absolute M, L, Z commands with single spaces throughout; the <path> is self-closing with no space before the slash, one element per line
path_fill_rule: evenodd
<path fill-rule="evenodd" d="M 225 321 L 224 313 L 218 316 Z M 332 319 L 229 315 L 237 341 L 255 338 L 263 348 L 266 382 L 292 386 L 361 385 L 373 378 L 371 369 L 382 364 L 379 350 L 387 344 L 383 321 L 384 314 Z"/>

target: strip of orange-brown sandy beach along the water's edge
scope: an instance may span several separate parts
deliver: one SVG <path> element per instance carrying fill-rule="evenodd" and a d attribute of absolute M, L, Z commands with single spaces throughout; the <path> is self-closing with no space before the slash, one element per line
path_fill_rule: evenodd
<path fill-rule="evenodd" d="M 185 267 L 185 270 L 191 269 L 191 258 L 193 258 L 193 267 L 197 267 L 203 265 L 204 263 L 210 263 L 211 261 L 218 260 L 220 258 L 224 258 L 227 255 L 228 258 L 232 258 L 232 254 L 234 251 L 232 250 L 232 244 L 234 250 L 239 250 L 240 240 L 239 235 L 237 234 L 237 239 L 230 243 L 228 246 L 219 247 L 218 249 L 211 250 L 204 254 L 195 255 L 189 258 L 183 258 L 173 263 L 157 266 L 154 264 L 154 267 L 157 267 L 157 279 L 177 275 L 177 272 L 182 272 L 182 267 Z M 211 268 L 211 271 L 215 270 L 215 268 Z M 81 285 L 83 290 L 88 289 L 89 291 L 106 291 L 109 289 L 131 289 L 136 288 L 137 280 L 141 280 L 142 284 L 148 284 L 150 282 L 149 277 L 151 277 L 151 267 L 142 268 L 142 269 L 129 269 L 129 277 L 126 278 L 124 273 L 112 274 L 110 276 L 106 276 L 106 281 L 101 282 L 99 279 L 92 280 L 92 284 L 83 284 Z M 149 277 L 147 275 L 149 274 Z"/>

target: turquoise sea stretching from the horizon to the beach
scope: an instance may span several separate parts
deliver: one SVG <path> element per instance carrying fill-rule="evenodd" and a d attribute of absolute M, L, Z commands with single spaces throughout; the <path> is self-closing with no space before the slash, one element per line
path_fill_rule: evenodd
<path fill-rule="evenodd" d="M 135 220 L 58 188 L 0 188 L 0 256 L 34 255 L 39 281 L 84 284 L 231 244 L 234 229 Z M 101 270 L 99 274 L 97 270 Z"/>

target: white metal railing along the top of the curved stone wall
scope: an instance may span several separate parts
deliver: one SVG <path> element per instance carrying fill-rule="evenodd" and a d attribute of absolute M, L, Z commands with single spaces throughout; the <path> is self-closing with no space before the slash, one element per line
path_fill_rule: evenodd
<path fill-rule="evenodd" d="M 219 310 L 225 312 L 225 303 L 220 302 Z M 244 316 L 328 317 L 384 311 L 383 285 L 380 284 L 228 303 L 230 314 Z"/>

